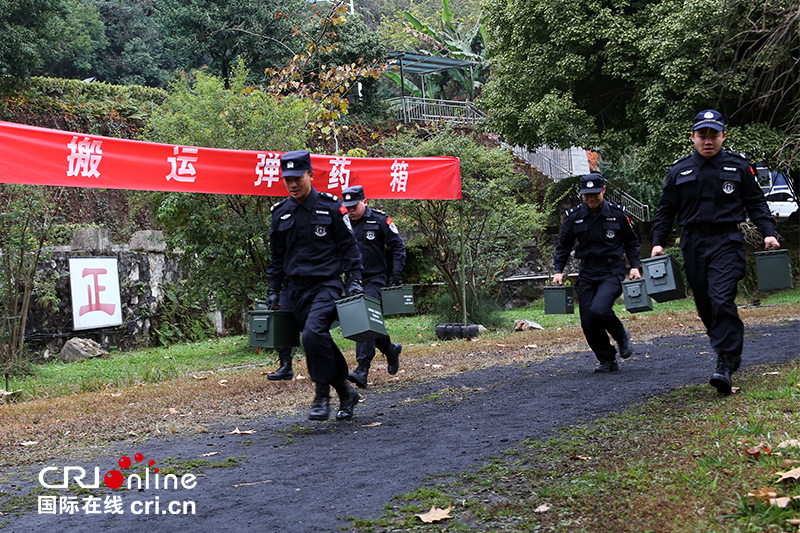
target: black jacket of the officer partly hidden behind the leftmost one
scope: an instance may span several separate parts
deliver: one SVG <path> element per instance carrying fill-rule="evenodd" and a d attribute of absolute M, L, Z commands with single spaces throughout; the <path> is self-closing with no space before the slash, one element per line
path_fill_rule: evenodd
<path fill-rule="evenodd" d="M 353 222 L 353 231 L 361 250 L 365 278 L 386 272 L 386 248 L 392 253 L 392 272 L 403 271 L 406 245 L 386 213 L 367 206 L 361 218 Z"/>

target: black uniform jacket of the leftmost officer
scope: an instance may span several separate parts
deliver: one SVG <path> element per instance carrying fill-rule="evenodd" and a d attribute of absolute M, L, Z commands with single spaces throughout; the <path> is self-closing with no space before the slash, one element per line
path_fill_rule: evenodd
<path fill-rule="evenodd" d="M 270 287 L 280 291 L 284 277 L 338 278 L 361 274 L 361 252 L 347 209 L 339 199 L 313 187 L 302 204 L 292 197 L 272 206 L 269 230 Z"/>

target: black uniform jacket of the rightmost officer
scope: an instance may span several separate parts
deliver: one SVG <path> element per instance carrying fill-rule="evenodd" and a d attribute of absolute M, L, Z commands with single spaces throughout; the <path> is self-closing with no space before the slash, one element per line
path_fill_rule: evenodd
<path fill-rule="evenodd" d="M 733 226 L 746 217 L 765 237 L 775 236 L 775 218 L 755 179 L 747 157 L 720 150 L 706 159 L 697 151 L 669 169 L 653 218 L 653 246 L 664 246 L 672 223 L 710 229 Z"/>

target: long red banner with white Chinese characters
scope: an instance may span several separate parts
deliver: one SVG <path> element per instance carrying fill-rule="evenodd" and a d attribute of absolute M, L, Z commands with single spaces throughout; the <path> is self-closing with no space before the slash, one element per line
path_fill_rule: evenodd
<path fill-rule="evenodd" d="M 288 196 L 283 152 L 157 144 L 0 121 L 1 183 L 101 189 Z M 311 154 L 314 188 L 367 198 L 461 198 L 456 157 L 369 158 Z"/>

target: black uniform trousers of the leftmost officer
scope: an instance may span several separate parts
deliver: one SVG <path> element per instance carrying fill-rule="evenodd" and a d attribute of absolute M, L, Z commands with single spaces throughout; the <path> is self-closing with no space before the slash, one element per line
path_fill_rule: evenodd
<path fill-rule="evenodd" d="M 341 298 L 343 289 L 338 278 L 289 280 L 289 298 L 302 332 L 308 375 L 315 383 L 335 385 L 347 379 L 347 360 L 330 333 L 337 316 L 336 300 Z"/>

